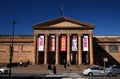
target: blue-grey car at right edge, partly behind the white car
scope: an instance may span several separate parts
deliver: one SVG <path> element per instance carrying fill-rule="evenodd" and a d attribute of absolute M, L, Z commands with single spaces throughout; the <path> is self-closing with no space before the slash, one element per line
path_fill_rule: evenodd
<path fill-rule="evenodd" d="M 106 70 L 109 72 L 109 75 L 118 75 L 120 74 L 120 66 L 113 65 L 109 68 L 106 68 Z"/>

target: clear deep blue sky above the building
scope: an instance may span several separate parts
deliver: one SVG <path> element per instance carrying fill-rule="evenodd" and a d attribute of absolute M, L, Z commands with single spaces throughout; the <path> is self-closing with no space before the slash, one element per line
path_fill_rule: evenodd
<path fill-rule="evenodd" d="M 120 0 L 0 0 L 0 35 L 31 35 L 32 26 L 63 15 L 95 25 L 94 35 L 120 35 Z"/>

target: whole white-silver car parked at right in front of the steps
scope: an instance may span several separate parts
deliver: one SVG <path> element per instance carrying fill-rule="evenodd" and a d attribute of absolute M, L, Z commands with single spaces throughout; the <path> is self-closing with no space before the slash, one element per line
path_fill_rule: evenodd
<path fill-rule="evenodd" d="M 90 66 L 83 71 L 83 75 L 88 76 L 115 76 L 113 71 L 109 68 L 104 68 L 101 66 Z"/>

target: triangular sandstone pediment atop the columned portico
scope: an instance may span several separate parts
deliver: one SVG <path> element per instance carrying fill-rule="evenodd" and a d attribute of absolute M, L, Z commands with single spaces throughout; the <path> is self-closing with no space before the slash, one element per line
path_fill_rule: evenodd
<path fill-rule="evenodd" d="M 47 22 L 43 22 L 33 26 L 33 29 L 94 29 L 94 25 L 80 22 L 71 18 L 60 17 Z"/>

